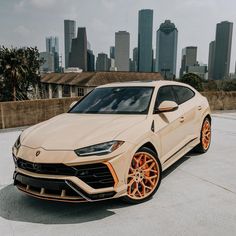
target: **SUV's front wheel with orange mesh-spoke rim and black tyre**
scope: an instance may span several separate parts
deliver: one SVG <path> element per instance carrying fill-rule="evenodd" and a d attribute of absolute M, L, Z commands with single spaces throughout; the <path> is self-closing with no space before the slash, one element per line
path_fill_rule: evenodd
<path fill-rule="evenodd" d="M 127 195 L 122 198 L 129 204 L 149 200 L 160 186 L 161 163 L 151 149 L 142 147 L 132 158 L 127 179 Z"/>

